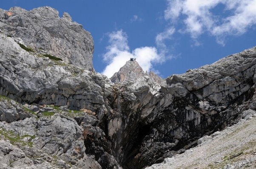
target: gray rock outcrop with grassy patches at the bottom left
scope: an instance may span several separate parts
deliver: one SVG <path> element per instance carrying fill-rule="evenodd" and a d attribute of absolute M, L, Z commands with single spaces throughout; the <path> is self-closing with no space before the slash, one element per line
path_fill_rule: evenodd
<path fill-rule="evenodd" d="M 3 104 L 8 104 L 6 99 L 3 100 Z M 92 115 L 73 113 L 51 106 L 42 109 L 48 112 L 38 114 L 40 118 L 36 116 L 37 118 L 0 123 L 1 139 L 11 143 L 3 140 L 1 142 L 0 158 L 4 159 L 1 164 L 6 168 L 101 169 L 97 161 L 85 154 L 83 128 L 73 119 L 78 118 L 79 114 L 86 119 L 94 119 Z"/>

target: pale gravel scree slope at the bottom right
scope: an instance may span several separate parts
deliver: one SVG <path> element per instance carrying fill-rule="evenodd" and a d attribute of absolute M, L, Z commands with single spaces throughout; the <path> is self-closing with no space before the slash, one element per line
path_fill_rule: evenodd
<path fill-rule="evenodd" d="M 198 145 L 146 169 L 255 169 L 256 111 L 221 132 L 199 139 Z"/>

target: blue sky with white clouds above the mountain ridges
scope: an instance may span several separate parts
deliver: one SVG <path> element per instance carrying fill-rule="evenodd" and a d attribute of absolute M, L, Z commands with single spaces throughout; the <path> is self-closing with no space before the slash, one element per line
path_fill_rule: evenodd
<path fill-rule="evenodd" d="M 94 39 L 96 72 L 130 57 L 163 78 L 256 46 L 256 0 L 1 0 L 0 8 L 51 6 Z"/>

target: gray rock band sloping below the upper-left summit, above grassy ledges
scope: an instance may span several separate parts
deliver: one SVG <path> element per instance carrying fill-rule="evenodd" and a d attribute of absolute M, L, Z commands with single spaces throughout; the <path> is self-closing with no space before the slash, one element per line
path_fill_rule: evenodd
<path fill-rule="evenodd" d="M 99 116 L 107 112 L 104 86 L 111 82 L 106 76 L 51 60 L 40 50 L 28 53 L 3 34 L 0 45 L 1 95 L 20 103 L 87 108 Z"/>

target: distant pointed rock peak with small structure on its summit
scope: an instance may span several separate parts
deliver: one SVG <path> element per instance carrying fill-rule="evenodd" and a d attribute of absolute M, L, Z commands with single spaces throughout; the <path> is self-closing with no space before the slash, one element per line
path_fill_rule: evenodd
<path fill-rule="evenodd" d="M 127 61 L 124 66 L 122 66 L 118 72 L 115 72 L 114 75 L 110 78 L 113 83 L 118 83 L 124 80 L 136 81 L 143 76 L 149 76 L 152 80 L 156 81 L 156 83 L 160 84 L 162 78 L 158 75 L 154 74 L 154 72 L 148 71 L 146 73 L 143 71 L 142 67 L 139 66 L 139 63 L 134 61 Z"/>

